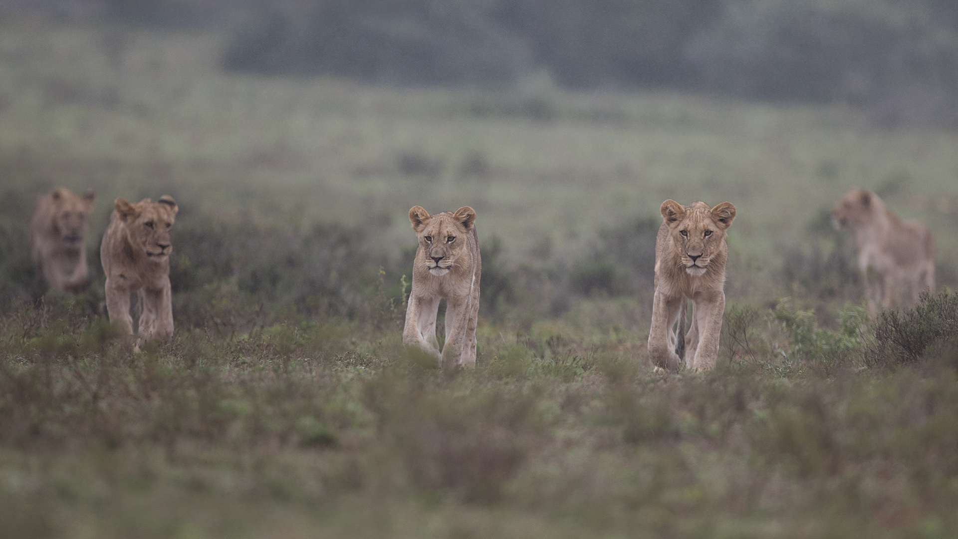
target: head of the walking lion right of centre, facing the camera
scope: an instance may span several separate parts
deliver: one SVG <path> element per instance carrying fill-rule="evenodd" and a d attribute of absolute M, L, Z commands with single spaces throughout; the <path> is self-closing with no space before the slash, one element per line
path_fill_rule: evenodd
<path fill-rule="evenodd" d="M 669 237 L 686 272 L 705 273 L 713 257 L 724 252 L 725 231 L 735 219 L 735 206 L 722 202 L 709 208 L 705 202 L 682 206 L 675 200 L 662 202 L 662 218 L 669 226 Z"/>

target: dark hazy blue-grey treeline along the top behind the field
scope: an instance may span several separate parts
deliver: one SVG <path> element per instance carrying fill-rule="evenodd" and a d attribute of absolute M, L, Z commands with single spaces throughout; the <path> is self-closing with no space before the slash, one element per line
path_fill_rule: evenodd
<path fill-rule="evenodd" d="M 78 4 L 84 2 L 69 2 Z M 234 30 L 222 62 L 235 71 L 498 87 L 545 71 L 565 88 L 661 88 L 840 102 L 862 106 L 887 125 L 958 126 L 958 3 L 953 0 L 86 4 L 126 24 L 225 23 Z"/>

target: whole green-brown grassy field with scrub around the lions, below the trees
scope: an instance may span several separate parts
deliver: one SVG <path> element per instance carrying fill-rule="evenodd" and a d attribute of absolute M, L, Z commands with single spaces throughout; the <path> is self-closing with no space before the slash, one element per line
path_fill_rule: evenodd
<path fill-rule="evenodd" d="M 222 35 L 0 17 L 0 536 L 950 537 L 958 300 L 868 320 L 876 189 L 958 284 L 958 135 L 840 106 L 230 75 Z M 44 294 L 34 198 L 171 194 L 177 335 Z M 645 352 L 664 199 L 738 217 L 719 367 Z M 471 205 L 474 372 L 404 351 L 410 206 Z M 93 267 L 100 271 L 99 263 Z M 782 301 L 783 298 L 788 298 Z"/>

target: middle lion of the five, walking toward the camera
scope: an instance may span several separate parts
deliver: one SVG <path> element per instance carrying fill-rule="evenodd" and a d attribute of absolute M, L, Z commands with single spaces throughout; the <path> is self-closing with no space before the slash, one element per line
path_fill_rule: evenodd
<path fill-rule="evenodd" d="M 435 355 L 441 366 L 471 368 L 476 363 L 482 258 L 475 219 L 475 210 L 468 206 L 433 216 L 422 206 L 409 210 L 419 247 L 402 342 Z M 445 345 L 440 351 L 436 315 L 444 298 Z"/>

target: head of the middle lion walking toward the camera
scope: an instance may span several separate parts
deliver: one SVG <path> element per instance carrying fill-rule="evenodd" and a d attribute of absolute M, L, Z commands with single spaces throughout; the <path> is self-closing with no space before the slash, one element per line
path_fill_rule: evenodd
<path fill-rule="evenodd" d="M 424 264 L 429 273 L 442 276 L 456 266 L 466 250 L 467 235 L 476 220 L 476 212 L 463 206 L 455 213 L 443 212 L 430 216 L 422 206 L 409 210 L 409 221 L 419 239 L 417 264 Z M 422 260 L 420 254 L 422 253 Z"/>

